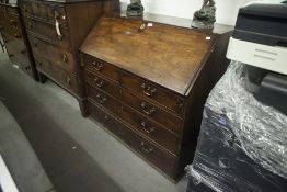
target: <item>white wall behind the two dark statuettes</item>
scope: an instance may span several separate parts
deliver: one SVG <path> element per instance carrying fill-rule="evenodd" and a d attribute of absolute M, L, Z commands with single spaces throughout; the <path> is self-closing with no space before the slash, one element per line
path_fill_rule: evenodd
<path fill-rule="evenodd" d="M 215 0 L 217 7 L 217 23 L 234 25 L 240 7 L 254 0 Z M 283 0 L 265 0 L 280 2 Z M 129 3 L 129 0 L 120 0 Z M 141 0 L 146 12 L 192 19 L 203 0 Z"/>

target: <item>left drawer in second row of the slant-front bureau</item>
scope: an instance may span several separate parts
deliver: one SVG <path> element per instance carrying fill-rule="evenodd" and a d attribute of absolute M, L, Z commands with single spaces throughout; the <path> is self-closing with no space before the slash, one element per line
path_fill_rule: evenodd
<path fill-rule="evenodd" d="M 84 81 L 93 88 L 99 88 L 101 90 L 104 90 L 105 92 L 107 92 L 111 95 L 120 98 L 119 95 L 120 88 L 119 87 L 116 87 L 111 81 L 107 81 L 104 78 L 101 78 L 100 76 L 96 76 L 89 70 L 84 70 Z"/>

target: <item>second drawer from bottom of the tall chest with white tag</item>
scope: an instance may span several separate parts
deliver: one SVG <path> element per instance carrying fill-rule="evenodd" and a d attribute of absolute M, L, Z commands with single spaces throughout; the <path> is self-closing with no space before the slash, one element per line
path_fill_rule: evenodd
<path fill-rule="evenodd" d="M 77 63 L 70 52 L 34 37 L 33 35 L 28 35 L 28 38 L 32 44 L 32 50 L 37 58 L 45 59 L 70 74 L 76 74 Z"/>

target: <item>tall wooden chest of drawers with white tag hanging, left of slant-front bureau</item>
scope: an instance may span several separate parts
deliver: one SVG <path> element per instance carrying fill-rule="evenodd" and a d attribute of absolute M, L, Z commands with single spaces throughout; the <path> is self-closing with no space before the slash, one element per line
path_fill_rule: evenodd
<path fill-rule="evenodd" d="M 78 49 L 99 16 L 118 10 L 118 0 L 22 0 L 39 80 L 46 77 L 82 101 Z"/>

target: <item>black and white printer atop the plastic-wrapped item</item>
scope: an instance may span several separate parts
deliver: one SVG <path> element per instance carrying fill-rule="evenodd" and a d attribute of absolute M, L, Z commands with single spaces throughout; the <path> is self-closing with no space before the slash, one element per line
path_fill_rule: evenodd
<path fill-rule="evenodd" d="M 257 100 L 287 114 L 287 1 L 241 8 L 227 58 L 246 64 Z"/>

